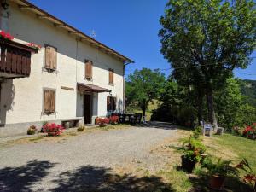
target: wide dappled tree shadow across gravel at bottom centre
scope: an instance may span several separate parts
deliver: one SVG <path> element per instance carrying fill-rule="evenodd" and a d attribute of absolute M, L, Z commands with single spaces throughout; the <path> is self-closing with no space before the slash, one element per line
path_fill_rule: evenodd
<path fill-rule="evenodd" d="M 99 166 L 81 166 L 74 172 L 63 172 L 53 181 L 58 187 L 51 191 L 86 192 L 174 192 L 172 186 L 160 177 L 135 177 L 129 174 L 119 175 L 109 168 Z"/>

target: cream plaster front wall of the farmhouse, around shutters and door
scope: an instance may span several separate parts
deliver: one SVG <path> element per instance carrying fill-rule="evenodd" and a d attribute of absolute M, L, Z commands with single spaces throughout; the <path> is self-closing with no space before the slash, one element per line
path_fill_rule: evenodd
<path fill-rule="evenodd" d="M 36 15 L 21 11 L 15 4 L 10 7 L 9 31 L 15 40 L 50 44 L 57 48 L 57 73 L 47 73 L 44 67 L 44 49 L 32 55 L 31 75 L 29 78 L 13 79 L 3 83 L 1 99 L 1 119 L 6 124 L 44 120 L 72 119 L 83 116 L 83 96 L 77 93 L 77 82 L 96 84 L 112 90 L 119 102 L 123 100 L 123 64 L 110 55 L 77 42 L 67 31 L 56 28 L 49 21 L 38 19 Z M 84 59 L 93 61 L 93 79 L 84 79 Z M 113 68 L 114 86 L 108 84 L 108 68 Z M 7 88 L 13 86 L 14 96 L 9 100 Z M 61 86 L 74 90 L 61 90 Z M 43 89 L 56 90 L 55 108 L 52 115 L 42 114 Z M 10 89 L 10 88 L 9 88 Z M 108 93 L 94 94 L 93 115 L 107 114 Z M 122 110 L 122 108 L 119 108 Z"/>

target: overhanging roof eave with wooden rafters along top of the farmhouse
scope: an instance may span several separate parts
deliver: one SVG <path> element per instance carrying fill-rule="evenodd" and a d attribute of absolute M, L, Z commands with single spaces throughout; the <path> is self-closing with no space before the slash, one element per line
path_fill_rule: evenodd
<path fill-rule="evenodd" d="M 61 27 L 63 29 L 66 29 L 70 34 L 76 36 L 82 42 L 87 42 L 91 45 L 94 45 L 98 49 L 101 49 L 103 52 L 107 53 L 108 55 L 113 55 L 114 57 L 118 58 L 120 61 L 129 62 L 129 63 L 134 62 L 131 59 L 129 59 L 128 57 L 119 54 L 119 52 L 109 48 L 107 45 L 96 41 L 96 39 L 90 38 L 90 36 L 84 34 L 84 32 L 80 32 L 78 29 L 74 28 L 73 26 L 68 25 L 64 21 L 59 20 L 55 16 L 50 15 L 43 9 L 38 8 L 37 6 L 35 6 L 32 3 L 29 3 L 26 0 L 12 0 L 12 2 L 17 3 L 19 5 L 20 9 L 26 9 L 28 11 L 31 11 L 32 13 L 36 14 L 39 19 L 49 20 L 50 22 L 53 23 L 53 25 L 55 27 Z"/>

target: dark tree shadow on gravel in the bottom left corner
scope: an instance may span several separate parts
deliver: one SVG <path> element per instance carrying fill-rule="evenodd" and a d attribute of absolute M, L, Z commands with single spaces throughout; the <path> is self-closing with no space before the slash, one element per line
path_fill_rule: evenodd
<path fill-rule="evenodd" d="M 54 165 L 49 161 L 33 160 L 24 166 L 5 167 L 0 170 L 0 191 L 32 191 L 32 185 L 47 176 Z"/>

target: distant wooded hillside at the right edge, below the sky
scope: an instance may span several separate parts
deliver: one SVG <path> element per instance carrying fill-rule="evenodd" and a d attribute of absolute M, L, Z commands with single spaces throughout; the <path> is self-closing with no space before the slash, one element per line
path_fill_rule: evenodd
<path fill-rule="evenodd" d="M 256 107 L 256 80 L 241 80 L 241 93 L 247 96 L 247 102 Z"/>

